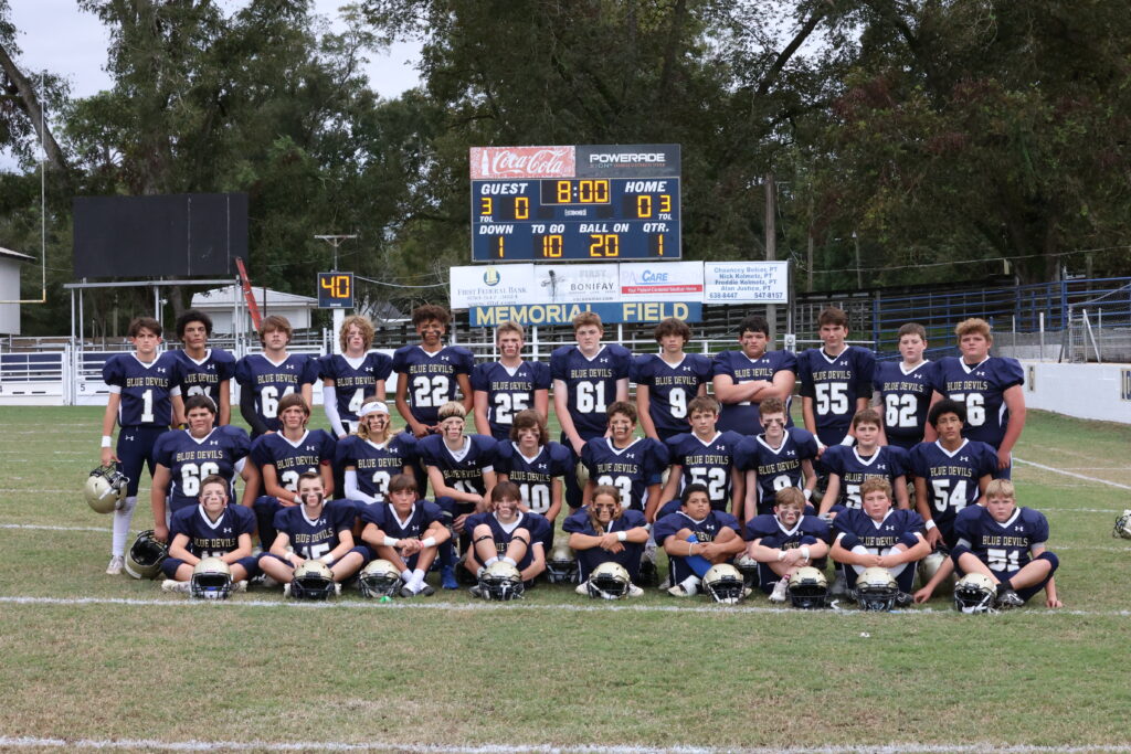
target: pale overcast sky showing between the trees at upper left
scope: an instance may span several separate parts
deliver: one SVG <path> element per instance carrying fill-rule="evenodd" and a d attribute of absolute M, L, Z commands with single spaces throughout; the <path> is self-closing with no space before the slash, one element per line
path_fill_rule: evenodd
<path fill-rule="evenodd" d="M 222 8 L 236 8 L 239 0 L 218 0 Z M 331 20 L 335 31 L 344 25 L 338 20 L 338 7 L 344 0 L 313 0 L 316 14 Z M 71 96 L 86 97 L 111 86 L 106 64 L 106 27 L 93 15 L 78 9 L 75 0 L 10 0 L 11 21 L 17 29 L 17 43 L 23 54 L 17 61 L 23 71 L 35 78 L 35 72 L 48 70 L 70 79 Z M 383 97 L 396 97 L 416 86 L 418 73 L 413 68 L 418 57 L 418 45 L 398 43 L 387 53 L 369 53 L 366 67 L 370 86 Z M 50 103 L 49 115 L 50 118 Z M 11 156 L 0 149 L 0 170 L 15 170 Z"/>

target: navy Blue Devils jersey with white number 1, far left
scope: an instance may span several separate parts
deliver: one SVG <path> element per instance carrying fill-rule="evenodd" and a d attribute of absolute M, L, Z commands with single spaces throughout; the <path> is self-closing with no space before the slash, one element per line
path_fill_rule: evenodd
<path fill-rule="evenodd" d="M 173 396 L 181 389 L 180 366 L 172 352 L 158 354 L 149 364 L 133 354 L 114 354 L 102 367 L 102 379 L 119 393 L 119 426 L 167 427 L 173 422 Z"/>

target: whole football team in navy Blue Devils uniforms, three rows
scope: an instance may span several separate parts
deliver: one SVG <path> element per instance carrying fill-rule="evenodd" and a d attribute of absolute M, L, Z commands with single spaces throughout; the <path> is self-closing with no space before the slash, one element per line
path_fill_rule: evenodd
<path fill-rule="evenodd" d="M 676 319 L 656 327 L 658 353 L 634 356 L 586 312 L 549 364 L 524 358 L 515 323 L 495 331 L 500 358 L 475 363 L 446 344 L 449 322 L 416 309 L 420 341 L 390 358 L 371 350 L 370 321 L 348 317 L 340 354 L 313 358 L 288 353 L 290 323 L 268 317 L 262 353 L 235 361 L 209 347 L 201 312 L 178 319 L 171 350 L 156 320 L 136 319 L 132 353 L 103 370 L 102 467 L 86 486 L 113 513 L 106 573 L 205 598 L 249 582 L 413 598 L 434 593 L 435 571 L 435 586 L 486 599 L 550 581 L 608 599 L 659 586 L 874 610 L 953 580 L 965 612 L 1041 591 L 1061 606 L 1047 521 L 1010 482 L 1024 374 L 990 354 L 983 320 L 957 326 L 957 357 L 925 359 L 926 332 L 909 323 L 900 359 L 877 362 L 846 341 L 838 309 L 818 320 L 819 348 L 767 350 L 766 320 L 748 317 L 739 347 L 714 357 L 684 350 Z M 230 423 L 232 378 L 250 436 Z M 319 381 L 330 432 L 308 428 Z M 144 467 L 153 529 L 127 547 Z"/>

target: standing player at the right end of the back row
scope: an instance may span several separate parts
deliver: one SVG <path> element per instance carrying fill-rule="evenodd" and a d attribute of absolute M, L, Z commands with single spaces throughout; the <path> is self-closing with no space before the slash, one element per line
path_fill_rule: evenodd
<path fill-rule="evenodd" d="M 955 328 L 961 356 L 939 361 L 940 392 L 966 404 L 964 435 L 998 451 L 995 478 L 1008 479 L 1013 445 L 1025 428 L 1025 373 L 1016 358 L 990 355 L 993 336 L 985 320 L 962 320 Z"/>

